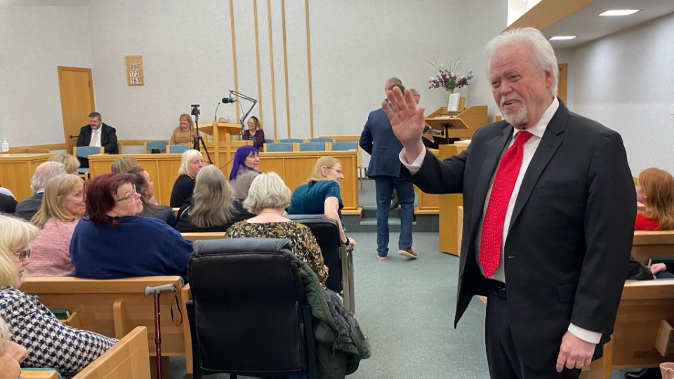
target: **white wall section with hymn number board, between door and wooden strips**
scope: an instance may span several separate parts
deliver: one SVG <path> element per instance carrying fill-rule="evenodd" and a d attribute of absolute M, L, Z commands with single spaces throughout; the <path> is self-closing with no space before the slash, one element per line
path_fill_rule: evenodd
<path fill-rule="evenodd" d="M 121 140 L 169 138 L 201 105 L 213 121 L 232 85 L 225 1 L 94 0 L 88 6 L 96 109 Z M 126 55 L 143 55 L 144 86 L 126 84 Z M 220 105 L 220 114 L 227 114 Z"/>

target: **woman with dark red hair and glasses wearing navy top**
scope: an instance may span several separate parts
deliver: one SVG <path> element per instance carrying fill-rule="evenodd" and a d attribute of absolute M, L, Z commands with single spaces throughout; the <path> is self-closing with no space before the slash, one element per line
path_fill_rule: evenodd
<path fill-rule="evenodd" d="M 86 213 L 75 227 L 74 277 L 119 279 L 180 275 L 187 282 L 192 242 L 166 222 L 140 216 L 136 177 L 103 174 L 86 182 Z"/>

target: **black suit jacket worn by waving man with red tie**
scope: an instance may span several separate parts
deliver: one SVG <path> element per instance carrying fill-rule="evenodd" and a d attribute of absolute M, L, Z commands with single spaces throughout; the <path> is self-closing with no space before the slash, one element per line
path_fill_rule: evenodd
<path fill-rule="evenodd" d="M 489 289 L 476 262 L 475 238 L 512 133 L 505 121 L 484 126 L 457 156 L 440 161 L 426 152 L 421 170 L 411 176 L 424 192 L 463 192 L 455 327 L 473 295 Z M 403 177 L 409 176 L 402 170 Z M 613 332 L 635 200 L 620 135 L 560 102 L 524 174 L 505 241 L 510 328 L 528 366 L 554 369 L 569 323 L 604 335 Z"/>

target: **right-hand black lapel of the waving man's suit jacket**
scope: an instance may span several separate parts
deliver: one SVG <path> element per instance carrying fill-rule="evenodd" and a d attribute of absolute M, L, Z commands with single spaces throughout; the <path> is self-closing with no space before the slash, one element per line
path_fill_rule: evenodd
<path fill-rule="evenodd" d="M 569 110 L 564 107 L 562 102 L 560 102 L 560 108 L 557 109 L 553 118 L 550 119 L 550 124 L 546 127 L 543 138 L 541 138 L 541 143 L 538 144 L 534 157 L 531 158 L 531 163 L 529 163 L 529 167 L 527 168 L 527 172 L 524 173 L 522 185 L 520 185 L 520 192 L 517 192 L 517 200 L 515 201 L 515 208 L 513 208 L 513 215 L 510 217 L 509 228 L 512 227 L 515 220 L 517 220 L 517 216 L 522 212 L 524 204 L 527 204 L 531 192 L 534 191 L 536 182 L 538 182 L 541 173 L 543 173 L 543 170 L 548 166 L 548 162 L 553 158 L 553 155 L 555 155 L 555 152 L 560 145 L 562 145 L 562 138 L 560 138 L 559 135 L 566 129 L 568 119 Z"/>

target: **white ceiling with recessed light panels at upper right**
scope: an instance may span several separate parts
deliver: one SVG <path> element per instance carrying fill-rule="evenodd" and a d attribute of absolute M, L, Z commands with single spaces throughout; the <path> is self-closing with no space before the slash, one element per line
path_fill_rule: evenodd
<path fill-rule="evenodd" d="M 623 17 L 597 16 L 610 9 L 641 9 L 641 11 Z M 550 41 L 555 48 L 569 48 L 673 12 L 673 0 L 595 0 L 543 30 L 543 34 L 548 38 L 578 36 L 567 41 Z"/>

